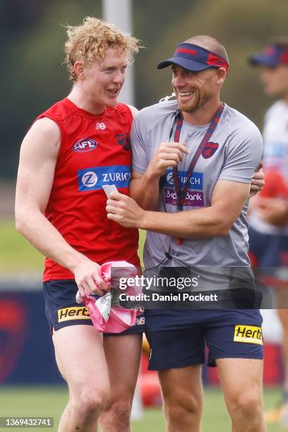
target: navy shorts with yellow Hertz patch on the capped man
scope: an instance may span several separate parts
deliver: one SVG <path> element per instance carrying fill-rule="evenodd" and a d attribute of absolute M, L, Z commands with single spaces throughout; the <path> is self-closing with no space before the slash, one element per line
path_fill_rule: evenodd
<path fill-rule="evenodd" d="M 146 310 L 149 369 L 184 368 L 215 360 L 263 359 L 262 321 L 258 309 Z"/>

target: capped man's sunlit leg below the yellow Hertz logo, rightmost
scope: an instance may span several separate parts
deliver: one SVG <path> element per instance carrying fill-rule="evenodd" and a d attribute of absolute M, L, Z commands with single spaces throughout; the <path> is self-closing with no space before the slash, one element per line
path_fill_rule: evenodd
<path fill-rule="evenodd" d="M 232 432 L 265 432 L 263 419 L 263 361 L 216 360 Z"/>

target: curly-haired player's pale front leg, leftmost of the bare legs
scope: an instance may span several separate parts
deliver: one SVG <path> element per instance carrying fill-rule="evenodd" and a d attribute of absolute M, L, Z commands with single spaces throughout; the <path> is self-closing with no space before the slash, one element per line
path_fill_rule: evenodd
<path fill-rule="evenodd" d="M 109 396 L 102 335 L 91 325 L 71 325 L 54 331 L 53 342 L 59 371 L 69 389 L 59 432 L 95 432 Z"/>

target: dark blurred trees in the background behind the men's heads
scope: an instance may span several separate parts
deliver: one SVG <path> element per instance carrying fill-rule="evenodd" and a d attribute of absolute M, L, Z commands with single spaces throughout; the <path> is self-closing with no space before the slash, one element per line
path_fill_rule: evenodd
<path fill-rule="evenodd" d="M 71 87 L 61 66 L 66 40 L 61 24 L 78 24 L 84 16 L 101 17 L 102 1 L 0 1 L 2 181 L 15 178 L 20 142 L 35 116 Z M 171 92 L 169 68 L 157 71 L 157 63 L 177 43 L 205 34 L 220 39 L 229 54 L 222 100 L 261 128 L 272 101 L 246 59 L 271 36 L 287 34 L 287 0 L 133 0 L 133 33 L 146 47 L 135 62 L 138 108 Z"/>

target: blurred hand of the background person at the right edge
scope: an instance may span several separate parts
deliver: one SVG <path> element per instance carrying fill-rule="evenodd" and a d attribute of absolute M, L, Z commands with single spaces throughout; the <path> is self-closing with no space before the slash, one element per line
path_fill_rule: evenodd
<path fill-rule="evenodd" d="M 269 224 L 282 227 L 288 220 L 288 201 L 280 198 L 258 198 L 258 210 Z"/>

